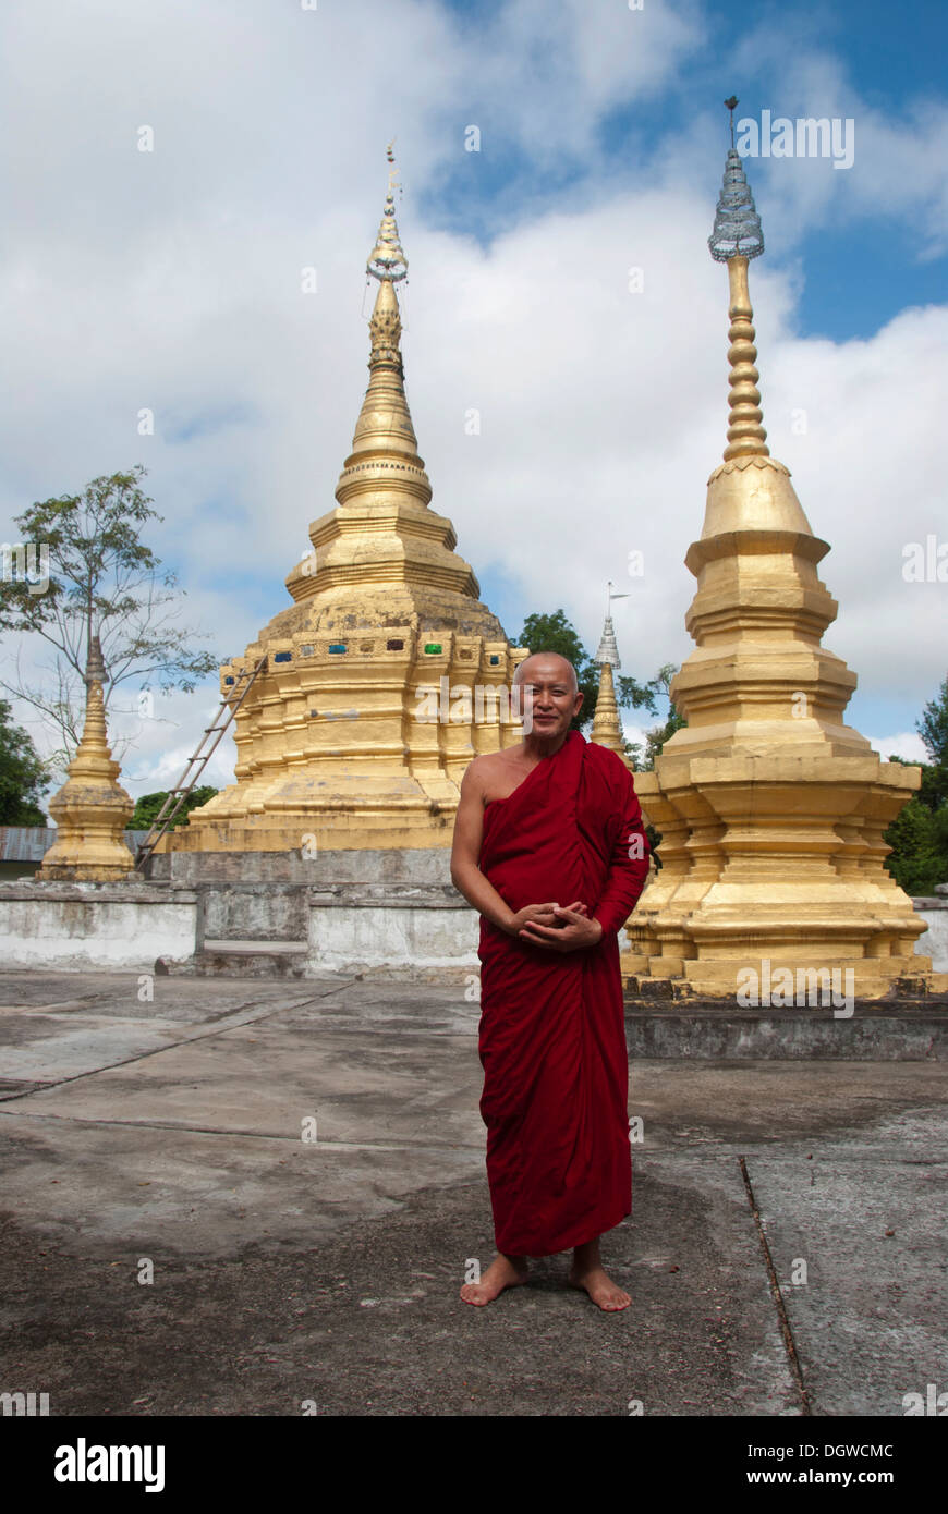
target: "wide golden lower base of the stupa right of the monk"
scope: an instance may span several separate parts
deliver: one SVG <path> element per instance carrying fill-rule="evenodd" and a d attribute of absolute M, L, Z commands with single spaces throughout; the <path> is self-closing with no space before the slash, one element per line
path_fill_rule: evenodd
<path fill-rule="evenodd" d="M 825 983 L 869 999 L 939 992 L 916 951 L 925 922 L 883 866 L 881 833 L 919 777 L 875 754 L 660 757 L 636 774 L 663 866 L 625 927 L 630 986 L 733 1001 L 753 972 L 783 996 L 789 969 L 787 1002 Z"/>

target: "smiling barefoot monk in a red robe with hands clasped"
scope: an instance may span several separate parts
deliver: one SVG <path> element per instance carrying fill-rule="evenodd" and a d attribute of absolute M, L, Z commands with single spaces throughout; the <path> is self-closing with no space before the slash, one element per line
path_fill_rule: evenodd
<path fill-rule="evenodd" d="M 583 695 L 557 653 L 515 674 L 524 739 L 460 784 L 454 887 L 480 913 L 480 1113 L 497 1257 L 466 1304 L 572 1251 L 569 1282 L 601 1310 L 631 1301 L 600 1235 L 631 1213 L 628 1061 L 618 931 L 648 875 L 631 774 L 569 728 Z"/>

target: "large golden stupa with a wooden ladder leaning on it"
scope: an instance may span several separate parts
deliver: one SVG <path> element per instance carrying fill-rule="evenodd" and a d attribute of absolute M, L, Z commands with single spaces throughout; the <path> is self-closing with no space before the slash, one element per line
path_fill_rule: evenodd
<path fill-rule="evenodd" d="M 309 528 L 312 554 L 286 578 L 292 607 L 221 668 L 227 696 L 267 659 L 236 715 L 236 783 L 161 849 L 447 846 L 471 759 L 521 739 L 509 690 L 527 651 L 482 604 L 429 503 L 404 395 L 394 192 L 389 170 L 366 265 L 370 383 L 338 507 Z"/>

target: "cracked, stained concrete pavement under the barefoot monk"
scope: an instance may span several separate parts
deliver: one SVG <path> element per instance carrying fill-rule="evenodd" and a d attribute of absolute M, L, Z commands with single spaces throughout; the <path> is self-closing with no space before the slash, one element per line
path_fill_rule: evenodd
<path fill-rule="evenodd" d="M 631 1307 L 554 1257 L 476 1310 L 463 987 L 139 992 L 0 975 L 0 1388 L 51 1414 L 903 1416 L 948 1388 L 943 1061 L 633 1061 L 603 1243 Z"/>

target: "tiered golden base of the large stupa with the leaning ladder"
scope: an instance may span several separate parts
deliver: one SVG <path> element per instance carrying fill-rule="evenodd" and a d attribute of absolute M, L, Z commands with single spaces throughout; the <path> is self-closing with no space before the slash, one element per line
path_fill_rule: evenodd
<path fill-rule="evenodd" d="M 238 781 L 159 851 L 450 846 L 466 768 L 519 740 L 509 690 L 527 656 L 479 601 L 462 613 L 489 634 L 373 624 L 370 609 L 342 643 L 265 633 L 221 669 L 226 693 L 268 657 L 238 713 Z"/>

